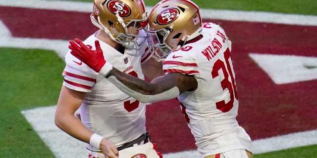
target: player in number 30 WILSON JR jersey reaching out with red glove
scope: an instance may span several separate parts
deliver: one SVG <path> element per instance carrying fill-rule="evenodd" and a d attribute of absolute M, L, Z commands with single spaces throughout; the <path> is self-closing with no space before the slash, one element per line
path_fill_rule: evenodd
<path fill-rule="evenodd" d="M 251 138 L 236 120 L 238 93 L 231 41 L 224 30 L 202 23 L 198 6 L 190 0 L 162 0 L 149 15 L 147 32 L 154 56 L 165 58 L 165 75 L 151 83 L 113 68 L 98 41 L 96 50 L 78 39 L 69 47 L 78 59 L 141 102 L 177 97 L 201 158 L 252 158 Z"/>

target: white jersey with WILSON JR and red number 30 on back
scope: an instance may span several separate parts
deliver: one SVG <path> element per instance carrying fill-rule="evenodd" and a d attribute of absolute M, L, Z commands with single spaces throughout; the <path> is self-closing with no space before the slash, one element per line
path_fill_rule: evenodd
<path fill-rule="evenodd" d="M 164 61 L 165 74 L 193 75 L 195 91 L 177 99 L 202 157 L 224 151 L 252 151 L 251 139 L 236 120 L 238 95 L 230 57 L 231 41 L 223 29 L 204 23 L 202 37 L 187 42 Z"/>

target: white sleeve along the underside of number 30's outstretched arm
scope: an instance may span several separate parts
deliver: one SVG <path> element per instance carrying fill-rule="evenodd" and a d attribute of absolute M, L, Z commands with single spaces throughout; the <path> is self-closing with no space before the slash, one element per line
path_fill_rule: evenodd
<path fill-rule="evenodd" d="M 128 94 L 129 96 L 133 97 L 134 99 L 142 102 L 142 103 L 154 103 L 162 100 L 168 100 L 176 98 L 179 95 L 179 89 L 177 86 L 174 86 L 173 88 L 166 90 L 162 93 L 155 94 L 155 95 L 144 95 L 139 92 L 136 92 L 126 85 L 124 85 L 122 82 L 120 82 L 117 78 L 114 76 L 110 76 L 107 78 L 112 84 L 114 84 L 116 87 L 118 87 L 121 91 Z"/>

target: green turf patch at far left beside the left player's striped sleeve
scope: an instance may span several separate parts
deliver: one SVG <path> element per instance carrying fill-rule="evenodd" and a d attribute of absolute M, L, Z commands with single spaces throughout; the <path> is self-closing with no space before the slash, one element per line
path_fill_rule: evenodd
<path fill-rule="evenodd" d="M 21 111 L 56 104 L 64 65 L 53 51 L 0 48 L 1 158 L 54 158 Z"/>

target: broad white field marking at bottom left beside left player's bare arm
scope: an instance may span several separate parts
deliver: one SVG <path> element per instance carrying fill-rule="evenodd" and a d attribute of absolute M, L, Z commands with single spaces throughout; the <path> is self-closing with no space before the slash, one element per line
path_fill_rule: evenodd
<path fill-rule="evenodd" d="M 54 124 L 56 106 L 23 110 L 30 122 L 56 158 L 87 158 L 85 144 L 60 130 Z"/>

